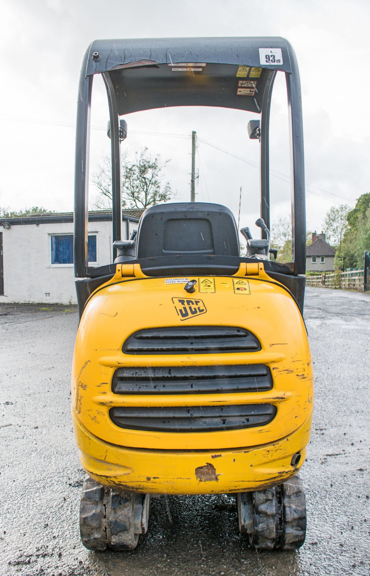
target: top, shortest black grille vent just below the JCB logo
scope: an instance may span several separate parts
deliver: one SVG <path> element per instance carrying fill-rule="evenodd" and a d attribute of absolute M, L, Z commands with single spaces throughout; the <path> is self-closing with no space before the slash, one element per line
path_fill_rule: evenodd
<path fill-rule="evenodd" d="M 245 328 L 174 326 L 134 332 L 122 350 L 125 354 L 220 354 L 255 352 L 261 344 Z"/>

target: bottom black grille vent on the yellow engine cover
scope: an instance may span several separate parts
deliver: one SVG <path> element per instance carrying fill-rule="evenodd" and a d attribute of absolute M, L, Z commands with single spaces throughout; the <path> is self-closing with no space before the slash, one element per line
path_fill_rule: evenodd
<path fill-rule="evenodd" d="M 154 432 L 215 432 L 265 426 L 274 418 L 272 404 L 241 406 L 169 406 L 110 408 L 113 423 L 129 430 Z"/>

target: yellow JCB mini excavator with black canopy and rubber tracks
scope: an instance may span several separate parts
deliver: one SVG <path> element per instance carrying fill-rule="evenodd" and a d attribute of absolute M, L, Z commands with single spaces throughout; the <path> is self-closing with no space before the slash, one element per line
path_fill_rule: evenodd
<path fill-rule="evenodd" d="M 192 60 L 192 62 L 189 62 Z M 269 113 L 277 73 L 288 94 L 292 262 L 270 248 Z M 87 189 L 93 79 L 109 104 L 112 260 L 90 267 Z M 231 211 L 167 203 L 121 239 L 121 116 L 173 106 L 260 114 L 261 238 L 246 256 Z M 79 328 L 72 415 L 87 479 L 80 507 L 89 550 L 132 550 L 151 495 L 234 494 L 239 530 L 258 550 L 293 550 L 306 535 L 297 475 L 312 418 L 303 321 L 306 216 L 299 71 L 280 37 L 94 41 L 78 92 L 74 212 Z"/>

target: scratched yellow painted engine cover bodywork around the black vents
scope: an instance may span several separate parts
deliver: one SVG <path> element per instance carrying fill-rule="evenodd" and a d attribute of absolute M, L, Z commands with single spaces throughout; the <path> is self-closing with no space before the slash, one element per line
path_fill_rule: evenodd
<path fill-rule="evenodd" d="M 186 294 L 188 300 L 203 304 L 199 305 L 200 314 L 185 320 L 181 320 L 172 301 L 185 298 L 183 285 L 166 284 L 165 278 L 148 278 L 137 264 L 117 266 L 115 277 L 90 297 L 75 344 L 72 407 L 82 465 L 93 478 L 143 492 L 235 492 L 289 478 L 296 473 L 297 468 L 290 463 L 298 451 L 299 466 L 302 465 L 310 437 L 313 399 L 310 348 L 302 316 L 289 293 L 272 283 L 262 264 L 242 264 L 234 277 L 247 279 L 249 295 L 235 294 L 230 277 L 215 276 L 214 293 L 199 293 L 196 285 L 194 294 Z M 194 331 L 197 326 L 206 325 L 243 327 L 257 336 L 262 350 L 162 356 L 122 352 L 123 343 L 132 332 L 176 325 L 192 325 Z M 120 366 L 250 363 L 270 367 L 272 390 L 117 395 L 111 389 L 113 373 Z M 277 414 L 265 426 L 201 433 L 124 430 L 109 419 L 112 406 L 219 406 L 220 403 L 269 403 L 277 407 Z M 245 456 L 235 457 L 236 452 Z M 212 458 L 216 454 L 221 456 Z M 207 463 L 215 467 L 217 480 L 201 482 L 194 471 Z"/>

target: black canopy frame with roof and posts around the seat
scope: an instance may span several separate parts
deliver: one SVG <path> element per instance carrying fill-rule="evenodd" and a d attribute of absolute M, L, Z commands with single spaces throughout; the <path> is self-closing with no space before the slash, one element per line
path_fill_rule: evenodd
<path fill-rule="evenodd" d="M 264 48 L 281 50 L 282 62 L 262 65 L 260 49 Z M 181 64 L 188 66 L 185 72 L 181 70 Z M 195 69 L 192 78 L 197 78 L 193 84 L 188 79 L 191 65 Z M 239 67 L 260 73 L 260 91 L 255 91 L 254 98 L 238 98 L 231 92 L 235 86 L 231 78 L 235 80 L 238 75 L 235 72 L 239 71 Z M 74 197 L 74 268 L 77 281 L 97 278 L 107 273 L 106 266 L 101 267 L 100 274 L 96 268 L 89 268 L 87 259 L 90 111 L 94 75 L 102 75 L 108 95 L 115 241 L 121 239 L 120 115 L 167 105 L 226 106 L 260 113 L 261 217 L 270 228 L 269 118 L 274 78 L 278 70 L 284 71 L 287 82 L 293 274 L 304 274 L 306 200 L 302 97 L 299 70 L 291 45 L 281 37 L 129 39 L 94 41 L 82 59 L 77 105 Z M 143 90 L 143 82 L 147 82 L 148 86 L 160 85 L 160 88 L 157 93 L 150 89 Z M 166 103 L 167 98 L 169 103 Z"/>

